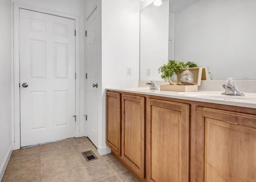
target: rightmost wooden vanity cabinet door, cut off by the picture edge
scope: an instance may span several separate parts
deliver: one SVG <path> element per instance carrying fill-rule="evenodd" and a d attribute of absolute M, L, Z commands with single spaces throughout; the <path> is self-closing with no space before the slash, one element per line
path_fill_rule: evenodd
<path fill-rule="evenodd" d="M 196 108 L 195 182 L 256 180 L 256 115 Z"/>

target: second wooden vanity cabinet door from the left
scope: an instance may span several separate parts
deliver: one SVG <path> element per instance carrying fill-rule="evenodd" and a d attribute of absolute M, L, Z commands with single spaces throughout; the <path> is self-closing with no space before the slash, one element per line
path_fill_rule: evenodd
<path fill-rule="evenodd" d="M 145 98 L 122 94 L 122 159 L 144 178 Z"/>

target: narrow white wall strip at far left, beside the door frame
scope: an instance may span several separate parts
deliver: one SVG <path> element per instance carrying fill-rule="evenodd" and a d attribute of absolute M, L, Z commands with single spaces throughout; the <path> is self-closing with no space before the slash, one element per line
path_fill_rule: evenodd
<path fill-rule="evenodd" d="M 12 151 L 11 2 L 0 0 L 0 181 Z"/>

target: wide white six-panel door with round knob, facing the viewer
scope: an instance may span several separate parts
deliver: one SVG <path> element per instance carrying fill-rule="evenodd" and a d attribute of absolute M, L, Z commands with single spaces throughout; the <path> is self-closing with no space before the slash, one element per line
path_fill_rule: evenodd
<path fill-rule="evenodd" d="M 75 136 L 75 20 L 20 9 L 21 147 Z"/>

